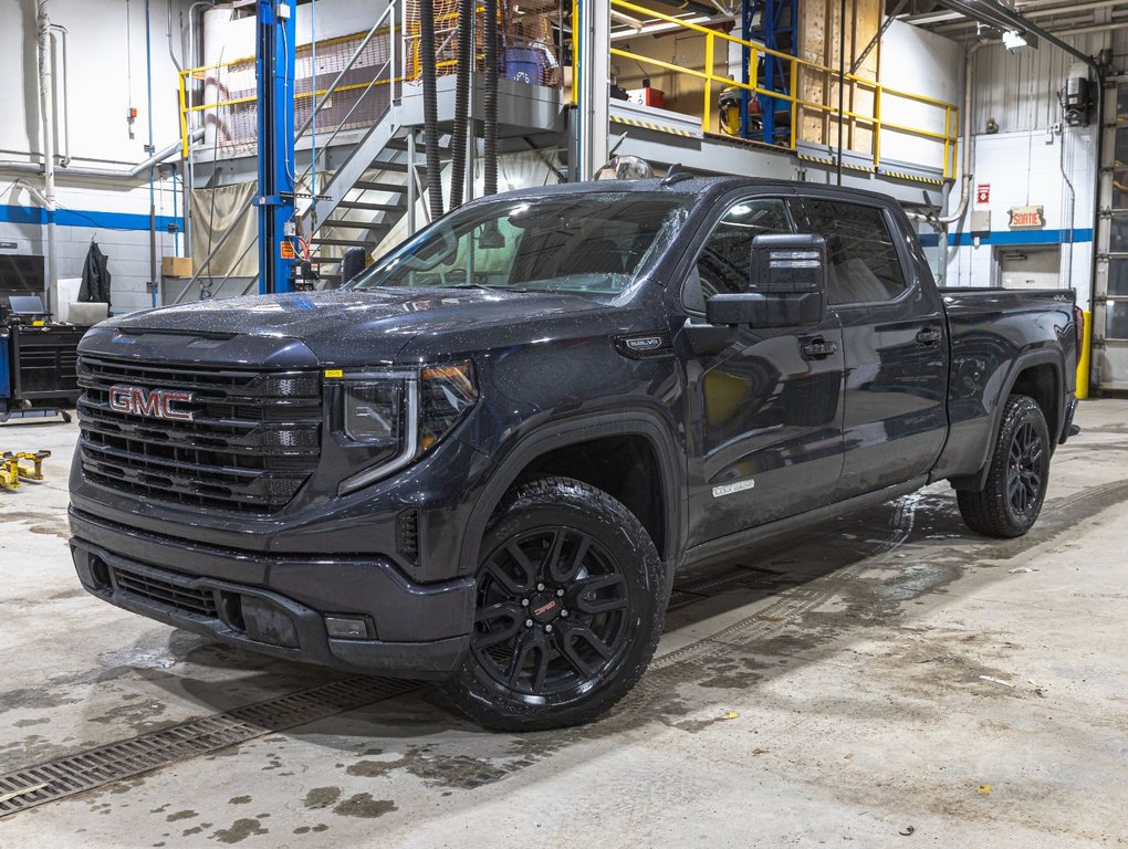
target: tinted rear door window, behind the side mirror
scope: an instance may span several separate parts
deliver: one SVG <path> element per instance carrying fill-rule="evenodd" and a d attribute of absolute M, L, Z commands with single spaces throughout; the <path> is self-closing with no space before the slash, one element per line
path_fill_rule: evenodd
<path fill-rule="evenodd" d="M 827 240 L 831 306 L 888 301 L 908 286 L 884 213 L 876 206 L 807 198 L 811 232 Z"/>

